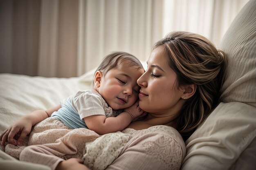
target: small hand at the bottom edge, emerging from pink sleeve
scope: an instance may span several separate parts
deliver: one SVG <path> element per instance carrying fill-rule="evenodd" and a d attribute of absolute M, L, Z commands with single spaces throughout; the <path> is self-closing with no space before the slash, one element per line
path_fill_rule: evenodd
<path fill-rule="evenodd" d="M 82 163 L 82 159 L 70 158 L 60 162 L 55 170 L 90 170 Z"/>

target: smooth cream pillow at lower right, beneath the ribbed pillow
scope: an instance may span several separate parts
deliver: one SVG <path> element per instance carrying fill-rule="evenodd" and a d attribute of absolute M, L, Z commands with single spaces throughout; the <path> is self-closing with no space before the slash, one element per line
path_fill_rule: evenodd
<path fill-rule="evenodd" d="M 181 169 L 229 170 L 256 136 L 255 113 L 242 102 L 220 103 L 185 142 Z"/>

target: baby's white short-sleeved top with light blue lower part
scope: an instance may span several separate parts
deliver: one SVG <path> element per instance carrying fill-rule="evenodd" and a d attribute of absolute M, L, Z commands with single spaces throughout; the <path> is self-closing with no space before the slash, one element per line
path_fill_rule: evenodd
<path fill-rule="evenodd" d="M 88 128 L 83 120 L 84 117 L 92 115 L 116 117 L 121 112 L 122 110 L 112 110 L 101 95 L 92 91 L 79 91 L 68 97 L 51 117 L 59 119 L 70 128 Z"/>

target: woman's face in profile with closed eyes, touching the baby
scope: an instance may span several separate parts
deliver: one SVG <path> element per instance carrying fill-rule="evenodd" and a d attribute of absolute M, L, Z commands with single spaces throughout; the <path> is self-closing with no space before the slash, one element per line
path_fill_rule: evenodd
<path fill-rule="evenodd" d="M 184 104 L 181 99 L 183 91 L 177 89 L 177 75 L 164 57 L 164 47 L 159 46 L 154 49 L 147 63 L 146 72 L 137 80 L 141 87 L 140 108 L 161 117 L 178 114 Z"/>

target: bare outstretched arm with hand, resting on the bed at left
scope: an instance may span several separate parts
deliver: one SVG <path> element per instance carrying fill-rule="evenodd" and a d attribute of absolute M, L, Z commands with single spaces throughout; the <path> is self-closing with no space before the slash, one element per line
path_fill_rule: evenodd
<path fill-rule="evenodd" d="M 35 110 L 30 114 L 21 117 L 2 132 L 0 135 L 1 145 L 4 146 L 5 141 L 8 141 L 13 145 L 22 144 L 22 141 L 31 131 L 32 126 L 38 124 L 47 117 L 50 117 L 52 113 L 59 108 L 61 108 L 61 105 L 47 110 Z"/>

